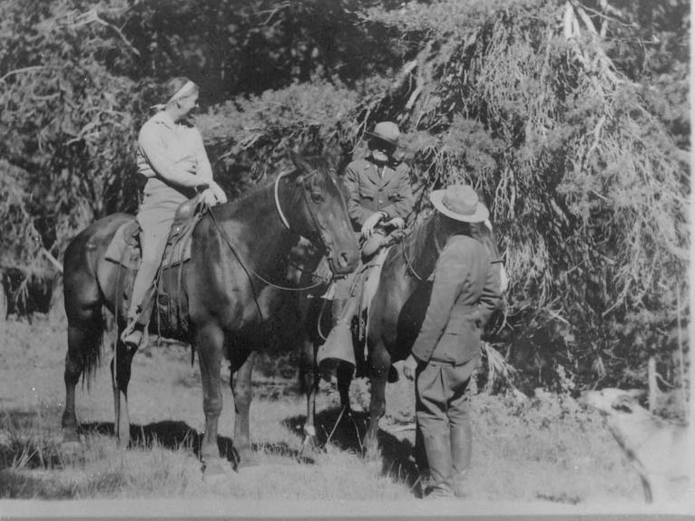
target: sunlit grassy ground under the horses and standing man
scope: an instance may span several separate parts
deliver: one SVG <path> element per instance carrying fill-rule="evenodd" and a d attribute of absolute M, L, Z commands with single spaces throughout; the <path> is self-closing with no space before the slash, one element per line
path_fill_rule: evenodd
<path fill-rule="evenodd" d="M 210 484 L 201 475 L 197 447 L 203 429 L 200 376 L 178 345 L 150 346 L 133 362 L 130 387 L 132 447 L 113 439 L 113 394 L 104 356 L 89 393 L 80 389 L 79 449 L 61 444 L 65 324 L 5 323 L 0 339 L 0 498 L 201 498 L 252 500 L 402 500 L 413 498 L 417 472 L 414 432 L 392 429 L 413 420 L 412 383 L 387 388 L 380 432 L 381 458 L 360 458 L 367 425 L 368 382 L 350 392 L 355 410 L 342 420 L 324 451 L 302 451 L 305 399 L 296 378 L 273 377 L 261 363 L 251 405 L 251 439 L 260 465 L 230 471 Z M 287 355 L 283 373 L 294 357 Z M 233 405 L 229 374 L 220 445 L 229 449 Z M 572 399 L 540 394 L 519 402 L 479 394 L 473 400 L 474 458 L 471 497 L 481 500 L 641 502 L 637 474 L 597 413 Z M 322 383 L 318 437 L 325 441 L 338 419 L 338 393 Z M 389 431 L 391 430 L 391 431 Z"/>

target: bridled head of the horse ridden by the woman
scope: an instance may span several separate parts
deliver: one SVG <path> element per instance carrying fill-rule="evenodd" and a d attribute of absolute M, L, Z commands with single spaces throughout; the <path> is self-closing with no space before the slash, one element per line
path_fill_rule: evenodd
<path fill-rule="evenodd" d="M 290 226 L 324 250 L 334 274 L 352 272 L 359 248 L 338 178 L 325 160 L 299 155 L 292 160 L 296 169 L 287 178 L 293 195 L 284 210 Z"/>

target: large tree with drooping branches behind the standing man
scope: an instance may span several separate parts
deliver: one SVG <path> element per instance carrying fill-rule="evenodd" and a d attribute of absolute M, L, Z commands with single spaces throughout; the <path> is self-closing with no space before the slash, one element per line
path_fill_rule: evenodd
<path fill-rule="evenodd" d="M 654 352 L 672 368 L 689 291 L 686 139 L 673 139 L 669 111 L 654 111 L 655 86 L 620 67 L 629 53 L 606 43 L 603 24 L 620 24 L 623 45 L 643 48 L 644 32 L 599 5 L 473 7 L 375 16 L 427 34 L 401 121 L 429 137 L 416 151 L 429 186 L 465 179 L 493 201 L 510 323 L 529 346 L 520 355 L 541 349 L 583 382 L 626 383 Z M 678 82 L 684 63 L 673 65 Z"/>

